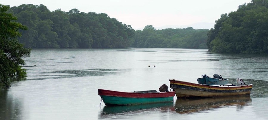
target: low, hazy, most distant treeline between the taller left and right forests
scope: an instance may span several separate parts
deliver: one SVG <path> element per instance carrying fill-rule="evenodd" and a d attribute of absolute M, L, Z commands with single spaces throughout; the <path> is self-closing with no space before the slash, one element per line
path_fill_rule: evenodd
<path fill-rule="evenodd" d="M 206 29 L 192 27 L 155 30 L 152 25 L 147 25 L 142 31 L 135 31 L 131 47 L 207 49 L 207 33 Z"/>

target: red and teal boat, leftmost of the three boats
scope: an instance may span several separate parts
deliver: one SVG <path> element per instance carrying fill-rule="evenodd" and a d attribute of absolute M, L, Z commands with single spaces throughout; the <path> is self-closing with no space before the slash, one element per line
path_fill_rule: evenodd
<path fill-rule="evenodd" d="M 172 102 L 175 91 L 158 92 L 156 90 L 119 92 L 98 89 L 105 105 L 138 105 L 148 103 Z"/>

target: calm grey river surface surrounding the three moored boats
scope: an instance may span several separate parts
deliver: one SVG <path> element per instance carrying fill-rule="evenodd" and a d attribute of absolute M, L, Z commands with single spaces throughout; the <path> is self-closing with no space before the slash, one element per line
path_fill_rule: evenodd
<path fill-rule="evenodd" d="M 33 49 L 27 77 L 0 91 L 0 119 L 268 119 L 268 55 L 207 49 Z M 148 67 L 150 65 L 150 67 Z M 153 67 L 155 65 L 155 67 Z M 214 73 L 253 84 L 250 96 L 105 106 L 97 89 L 158 90 L 169 79 L 197 83 Z"/>

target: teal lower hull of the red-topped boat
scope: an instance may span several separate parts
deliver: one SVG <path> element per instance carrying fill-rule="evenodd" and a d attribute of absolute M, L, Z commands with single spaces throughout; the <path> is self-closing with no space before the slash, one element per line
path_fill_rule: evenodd
<path fill-rule="evenodd" d="M 161 103 L 161 102 L 172 102 L 172 97 L 155 97 L 155 98 L 130 98 L 130 97 L 115 97 L 101 95 L 101 98 L 105 105 L 138 105 L 148 103 Z"/>

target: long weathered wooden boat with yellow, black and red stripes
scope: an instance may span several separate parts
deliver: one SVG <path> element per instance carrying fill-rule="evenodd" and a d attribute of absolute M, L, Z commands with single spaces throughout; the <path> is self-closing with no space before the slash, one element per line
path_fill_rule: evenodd
<path fill-rule="evenodd" d="M 250 95 L 252 89 L 252 84 L 238 86 L 233 84 L 207 85 L 175 79 L 170 79 L 169 83 L 170 87 L 176 91 L 177 98 Z"/>

